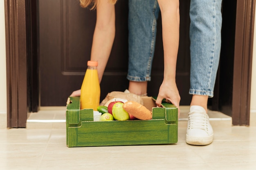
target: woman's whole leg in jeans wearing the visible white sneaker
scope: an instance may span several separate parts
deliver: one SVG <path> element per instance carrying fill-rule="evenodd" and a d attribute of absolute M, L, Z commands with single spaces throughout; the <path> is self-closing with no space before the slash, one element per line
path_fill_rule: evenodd
<path fill-rule="evenodd" d="M 207 115 L 208 97 L 213 89 L 220 58 L 222 0 L 191 0 L 191 87 L 193 94 L 186 143 L 208 145 L 213 130 Z"/>

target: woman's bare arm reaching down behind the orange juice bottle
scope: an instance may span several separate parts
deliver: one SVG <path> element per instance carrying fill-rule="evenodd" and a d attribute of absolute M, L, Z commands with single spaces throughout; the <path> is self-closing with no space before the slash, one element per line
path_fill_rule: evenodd
<path fill-rule="evenodd" d="M 115 38 L 115 5 L 108 3 L 108 0 L 99 0 L 96 9 L 97 19 L 90 60 L 98 61 L 98 75 L 101 82 Z M 81 89 L 72 92 L 70 96 L 80 96 L 80 94 Z"/>

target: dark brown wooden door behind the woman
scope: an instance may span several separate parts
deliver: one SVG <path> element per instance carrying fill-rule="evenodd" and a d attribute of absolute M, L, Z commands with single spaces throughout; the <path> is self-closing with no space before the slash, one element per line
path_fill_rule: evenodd
<path fill-rule="evenodd" d="M 189 2 L 180 1 L 180 49 L 177 60 L 177 86 L 181 105 L 189 105 Z M 116 36 L 110 59 L 101 81 L 101 100 L 112 91 L 128 88 L 128 1 L 116 4 Z M 38 30 L 40 58 L 40 105 L 64 106 L 67 97 L 80 89 L 90 60 L 96 11 L 83 9 L 78 0 L 39 0 Z M 157 96 L 163 79 L 161 16 L 148 83 L 148 96 Z"/>

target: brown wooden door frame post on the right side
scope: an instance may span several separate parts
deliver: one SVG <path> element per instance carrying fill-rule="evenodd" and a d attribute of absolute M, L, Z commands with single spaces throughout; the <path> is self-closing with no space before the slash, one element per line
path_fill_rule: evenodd
<path fill-rule="evenodd" d="M 237 0 L 236 7 L 232 123 L 249 125 L 255 0 Z"/>

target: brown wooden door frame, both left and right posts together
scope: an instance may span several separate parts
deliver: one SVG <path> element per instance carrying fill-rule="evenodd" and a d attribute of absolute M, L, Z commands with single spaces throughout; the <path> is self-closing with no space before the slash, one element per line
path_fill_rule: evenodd
<path fill-rule="evenodd" d="M 37 1 L 4 0 L 4 8 L 7 128 L 26 128 L 39 106 Z M 232 124 L 249 125 L 255 0 L 237 0 L 236 8 Z"/>

